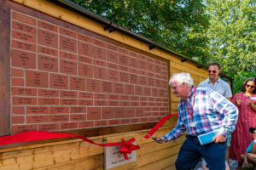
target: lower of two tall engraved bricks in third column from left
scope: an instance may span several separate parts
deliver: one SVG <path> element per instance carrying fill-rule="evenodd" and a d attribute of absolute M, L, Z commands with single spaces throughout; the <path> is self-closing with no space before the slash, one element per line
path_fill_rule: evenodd
<path fill-rule="evenodd" d="M 77 75 L 77 62 L 60 59 L 60 71 L 61 73 Z"/>

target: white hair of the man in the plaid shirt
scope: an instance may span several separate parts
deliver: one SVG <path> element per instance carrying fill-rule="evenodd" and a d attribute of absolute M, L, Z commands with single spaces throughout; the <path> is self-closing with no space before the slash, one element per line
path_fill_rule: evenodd
<path fill-rule="evenodd" d="M 193 79 L 188 72 L 174 73 L 169 81 L 170 86 L 172 81 L 176 81 L 178 85 L 181 85 L 183 82 L 189 87 L 194 85 Z"/>

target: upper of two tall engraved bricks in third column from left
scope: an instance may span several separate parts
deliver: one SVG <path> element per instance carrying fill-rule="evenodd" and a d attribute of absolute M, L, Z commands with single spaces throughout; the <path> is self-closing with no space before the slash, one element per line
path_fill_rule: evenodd
<path fill-rule="evenodd" d="M 60 49 L 76 54 L 77 53 L 77 42 L 73 38 L 60 36 Z"/>

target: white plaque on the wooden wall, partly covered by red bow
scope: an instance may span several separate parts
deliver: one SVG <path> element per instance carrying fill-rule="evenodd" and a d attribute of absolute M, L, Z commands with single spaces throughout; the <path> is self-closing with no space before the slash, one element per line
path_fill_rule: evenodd
<path fill-rule="evenodd" d="M 132 144 L 136 144 L 133 142 Z M 137 151 L 132 150 L 131 154 L 127 154 L 129 160 L 125 160 L 124 154 L 119 152 L 121 146 L 108 146 L 104 147 L 105 150 L 105 170 L 113 167 L 119 167 L 133 161 L 137 161 Z"/>

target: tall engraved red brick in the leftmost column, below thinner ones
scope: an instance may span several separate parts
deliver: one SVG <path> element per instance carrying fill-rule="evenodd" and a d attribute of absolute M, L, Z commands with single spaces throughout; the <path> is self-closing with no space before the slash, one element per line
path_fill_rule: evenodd
<path fill-rule="evenodd" d="M 12 49 L 11 55 L 12 66 L 27 69 L 36 69 L 36 54 Z"/>

